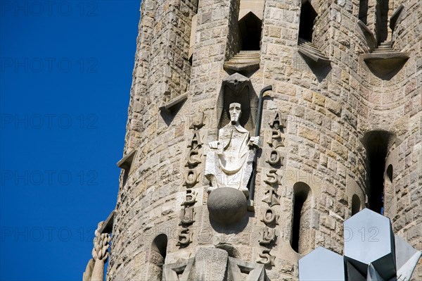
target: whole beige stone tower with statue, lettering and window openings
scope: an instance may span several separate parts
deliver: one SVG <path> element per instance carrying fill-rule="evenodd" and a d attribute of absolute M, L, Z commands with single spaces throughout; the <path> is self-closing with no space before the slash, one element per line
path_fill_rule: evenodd
<path fill-rule="evenodd" d="M 107 280 L 298 280 L 365 207 L 421 250 L 421 14 L 143 0 Z"/>

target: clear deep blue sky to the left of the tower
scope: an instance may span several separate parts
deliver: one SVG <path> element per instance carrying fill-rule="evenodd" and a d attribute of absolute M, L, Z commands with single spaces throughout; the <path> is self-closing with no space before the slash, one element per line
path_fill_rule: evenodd
<path fill-rule="evenodd" d="M 117 199 L 139 6 L 0 0 L 0 280 L 82 280 Z"/>

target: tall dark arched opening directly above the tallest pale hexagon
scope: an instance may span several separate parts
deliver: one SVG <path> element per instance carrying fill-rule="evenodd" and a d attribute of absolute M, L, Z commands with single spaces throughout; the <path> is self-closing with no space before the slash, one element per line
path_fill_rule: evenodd
<path fill-rule="evenodd" d="M 392 133 L 386 131 L 367 132 L 362 139 L 366 149 L 366 173 L 368 174 L 368 203 L 372 211 L 384 212 L 385 158 Z"/>

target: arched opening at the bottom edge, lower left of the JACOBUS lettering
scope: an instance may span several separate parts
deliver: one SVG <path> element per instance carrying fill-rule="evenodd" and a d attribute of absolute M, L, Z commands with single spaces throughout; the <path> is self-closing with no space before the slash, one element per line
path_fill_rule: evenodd
<path fill-rule="evenodd" d="M 162 266 L 167 255 L 167 235 L 160 234 L 151 243 L 148 262 L 151 267 L 148 269 L 148 280 L 162 279 Z"/>

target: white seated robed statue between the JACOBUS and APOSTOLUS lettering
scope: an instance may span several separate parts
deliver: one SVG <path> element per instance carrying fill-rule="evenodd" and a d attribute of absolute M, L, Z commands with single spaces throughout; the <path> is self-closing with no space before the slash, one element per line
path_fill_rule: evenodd
<path fill-rule="evenodd" d="M 205 177 L 212 187 L 233 187 L 241 190 L 248 198 L 248 181 L 252 174 L 252 162 L 256 149 L 260 146 L 260 137 L 249 137 L 249 132 L 239 123 L 241 104 L 229 106 L 230 123 L 219 130 L 219 138 L 210 142 L 210 152 L 205 163 Z"/>

